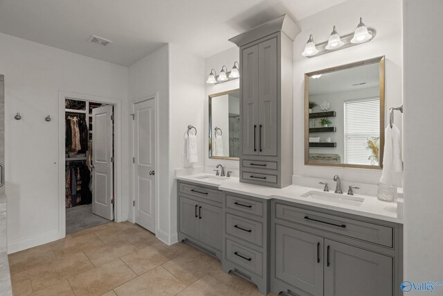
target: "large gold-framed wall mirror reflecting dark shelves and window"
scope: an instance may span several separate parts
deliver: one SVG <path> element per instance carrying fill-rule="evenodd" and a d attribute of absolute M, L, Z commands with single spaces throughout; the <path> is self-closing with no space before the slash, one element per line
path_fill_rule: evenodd
<path fill-rule="evenodd" d="M 385 58 L 305 74 L 305 164 L 381 168 Z"/>

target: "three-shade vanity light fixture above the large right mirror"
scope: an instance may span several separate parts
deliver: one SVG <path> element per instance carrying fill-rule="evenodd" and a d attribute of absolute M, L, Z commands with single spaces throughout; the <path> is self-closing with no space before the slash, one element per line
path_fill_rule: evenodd
<path fill-rule="evenodd" d="M 309 40 L 307 41 L 305 51 L 303 51 L 302 55 L 307 58 L 313 58 L 317 55 L 324 55 L 325 53 L 330 53 L 332 51 L 346 49 L 347 47 L 356 46 L 364 42 L 370 42 L 374 39 L 375 35 L 375 30 L 373 28 L 367 28 L 365 24 L 363 24 L 363 19 L 360 18 L 360 23 L 354 33 L 340 36 L 334 26 L 327 42 L 314 44 L 312 35 L 309 35 Z"/>

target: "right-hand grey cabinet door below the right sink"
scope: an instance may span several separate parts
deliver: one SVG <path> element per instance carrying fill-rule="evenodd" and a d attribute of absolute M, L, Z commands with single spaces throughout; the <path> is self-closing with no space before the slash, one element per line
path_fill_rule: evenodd
<path fill-rule="evenodd" d="M 392 258 L 327 239 L 325 258 L 325 296 L 392 295 Z"/>

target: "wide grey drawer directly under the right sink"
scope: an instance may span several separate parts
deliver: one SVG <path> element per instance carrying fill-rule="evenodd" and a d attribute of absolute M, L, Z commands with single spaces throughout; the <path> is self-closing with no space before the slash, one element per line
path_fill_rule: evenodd
<path fill-rule="evenodd" d="M 275 204 L 275 211 L 275 216 L 280 219 L 392 247 L 392 227 L 299 209 L 286 204 Z"/>

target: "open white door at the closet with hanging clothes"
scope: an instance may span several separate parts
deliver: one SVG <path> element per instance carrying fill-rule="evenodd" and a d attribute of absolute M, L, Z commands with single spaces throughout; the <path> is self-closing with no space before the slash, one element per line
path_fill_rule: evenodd
<path fill-rule="evenodd" d="M 114 220 L 113 114 L 111 105 L 92 110 L 92 212 L 108 220 Z"/>

